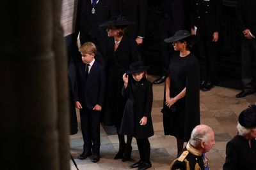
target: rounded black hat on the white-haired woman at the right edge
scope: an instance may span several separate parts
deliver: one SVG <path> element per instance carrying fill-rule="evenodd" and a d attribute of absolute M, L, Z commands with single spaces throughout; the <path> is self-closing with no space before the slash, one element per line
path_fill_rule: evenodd
<path fill-rule="evenodd" d="M 246 128 L 256 127 L 256 105 L 252 104 L 249 108 L 243 110 L 238 117 L 238 122 Z"/>

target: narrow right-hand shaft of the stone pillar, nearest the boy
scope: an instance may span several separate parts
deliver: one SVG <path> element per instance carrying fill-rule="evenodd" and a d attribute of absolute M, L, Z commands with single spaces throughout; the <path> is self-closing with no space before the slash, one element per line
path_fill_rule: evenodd
<path fill-rule="evenodd" d="M 60 24 L 61 20 L 61 0 L 53 0 L 53 43 L 52 49 L 55 53 L 55 66 L 56 66 L 56 80 L 57 80 L 57 98 L 58 98 L 58 132 L 59 132 L 59 164 L 60 169 L 69 169 L 70 156 L 69 152 L 69 140 L 67 136 L 69 133 L 69 113 L 68 113 L 68 81 L 67 81 L 67 51 L 65 48 L 65 42 L 63 39 L 63 29 Z"/>

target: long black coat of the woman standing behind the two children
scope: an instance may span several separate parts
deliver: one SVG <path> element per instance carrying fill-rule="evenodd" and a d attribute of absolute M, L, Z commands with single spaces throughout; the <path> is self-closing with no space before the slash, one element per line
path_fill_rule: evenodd
<path fill-rule="evenodd" d="M 103 124 L 120 127 L 124 112 L 125 98 L 121 91 L 122 76 L 132 62 L 138 61 L 138 48 L 134 39 L 124 36 L 115 51 L 114 38 L 107 41 L 107 87 L 104 103 Z"/>

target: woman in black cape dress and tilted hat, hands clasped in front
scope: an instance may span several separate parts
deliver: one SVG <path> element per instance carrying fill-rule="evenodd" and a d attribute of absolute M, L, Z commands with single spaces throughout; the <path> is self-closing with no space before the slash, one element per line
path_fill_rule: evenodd
<path fill-rule="evenodd" d="M 177 138 L 179 153 L 184 142 L 189 140 L 193 128 L 200 124 L 199 64 L 190 52 L 191 34 L 188 31 L 177 31 L 164 41 L 172 43 L 178 52 L 174 52 L 170 58 L 165 81 L 163 124 L 164 134 Z"/>

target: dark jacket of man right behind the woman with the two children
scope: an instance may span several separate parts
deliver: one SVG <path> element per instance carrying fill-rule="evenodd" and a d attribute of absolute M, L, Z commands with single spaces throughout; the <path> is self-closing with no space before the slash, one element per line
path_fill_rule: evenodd
<path fill-rule="evenodd" d="M 147 24 L 147 0 L 116 0 L 117 13 L 135 24 L 127 28 L 127 36 L 136 39 L 137 36 L 145 37 Z"/>

